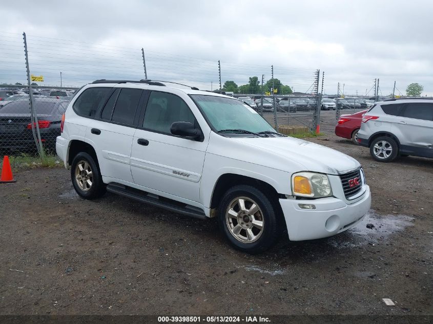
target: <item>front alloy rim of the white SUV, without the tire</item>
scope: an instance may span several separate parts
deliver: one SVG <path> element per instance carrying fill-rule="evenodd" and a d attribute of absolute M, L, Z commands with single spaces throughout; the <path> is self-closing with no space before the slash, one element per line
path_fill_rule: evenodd
<path fill-rule="evenodd" d="M 263 213 L 252 199 L 238 197 L 229 204 L 225 223 L 236 240 L 253 243 L 263 232 Z"/>

